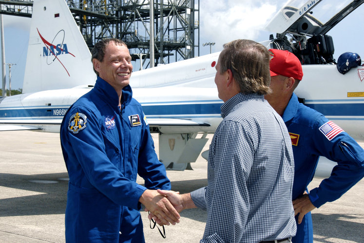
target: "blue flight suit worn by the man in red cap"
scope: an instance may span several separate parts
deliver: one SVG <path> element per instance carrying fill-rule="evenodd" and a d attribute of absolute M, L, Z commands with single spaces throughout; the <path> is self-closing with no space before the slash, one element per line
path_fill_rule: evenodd
<path fill-rule="evenodd" d="M 364 150 L 347 133 L 341 132 L 329 140 L 319 128 L 328 120 L 324 115 L 298 102 L 293 93 L 283 114 L 292 140 L 295 173 L 292 200 L 301 196 L 311 182 L 319 156 L 338 163 L 329 178 L 318 188 L 309 191 L 309 199 L 319 208 L 343 195 L 364 176 Z M 296 216 L 296 223 L 297 223 Z M 313 229 L 311 213 L 307 213 L 301 224 L 297 224 L 293 243 L 312 243 Z"/>

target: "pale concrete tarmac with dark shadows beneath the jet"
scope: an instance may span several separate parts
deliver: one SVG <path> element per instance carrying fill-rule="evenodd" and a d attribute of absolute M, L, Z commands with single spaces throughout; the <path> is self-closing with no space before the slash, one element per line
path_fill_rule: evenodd
<path fill-rule="evenodd" d="M 157 141 L 157 134 L 152 136 Z M 0 153 L 0 242 L 65 242 L 68 174 L 59 134 L 1 132 Z M 207 185 L 207 161 L 200 156 L 192 168 L 167 171 L 172 190 L 184 193 Z M 309 188 L 321 180 L 314 178 Z M 143 181 L 139 178 L 138 183 Z M 205 211 L 185 210 L 179 224 L 165 227 L 163 239 L 156 228 L 150 229 L 146 212 L 142 218 L 147 243 L 197 243 L 206 224 Z M 364 180 L 337 201 L 314 209 L 312 218 L 315 243 L 364 243 Z"/>

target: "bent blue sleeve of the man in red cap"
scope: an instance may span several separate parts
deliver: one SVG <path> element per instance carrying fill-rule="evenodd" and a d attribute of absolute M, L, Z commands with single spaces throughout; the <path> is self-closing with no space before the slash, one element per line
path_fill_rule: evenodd
<path fill-rule="evenodd" d="M 309 192 L 309 198 L 316 208 L 340 198 L 364 177 L 363 148 L 345 132 L 327 139 L 318 130 L 326 122 L 323 116 L 319 119 L 312 144 L 319 156 L 325 156 L 338 165 L 333 168 L 330 177 Z"/>

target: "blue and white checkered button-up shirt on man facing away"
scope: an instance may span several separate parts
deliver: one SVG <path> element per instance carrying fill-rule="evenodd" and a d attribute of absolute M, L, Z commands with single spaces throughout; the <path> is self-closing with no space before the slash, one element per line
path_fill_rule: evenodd
<path fill-rule="evenodd" d="M 285 123 L 263 95 L 241 93 L 221 106 L 210 145 L 208 186 L 191 192 L 206 208 L 201 243 L 258 243 L 295 235 L 294 162 Z"/>

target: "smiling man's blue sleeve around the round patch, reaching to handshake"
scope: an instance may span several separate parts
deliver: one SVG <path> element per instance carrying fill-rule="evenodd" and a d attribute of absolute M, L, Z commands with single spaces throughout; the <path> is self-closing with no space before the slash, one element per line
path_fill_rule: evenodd
<path fill-rule="evenodd" d="M 84 129 L 73 133 L 68 130 L 69 121 L 64 120 L 60 131 L 70 182 L 77 183 L 76 186 L 80 188 L 95 187 L 118 205 L 140 209 L 139 198 L 146 188 L 127 179 L 109 159 L 107 153 L 110 156 L 110 151 L 116 149 L 105 146 L 95 114 L 82 107 L 73 107 L 68 114 L 72 115 L 75 112 L 87 117 Z M 70 116 L 67 116 L 67 119 L 69 118 Z M 117 153 L 114 153 L 117 156 Z"/>

